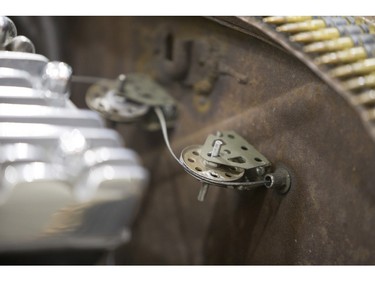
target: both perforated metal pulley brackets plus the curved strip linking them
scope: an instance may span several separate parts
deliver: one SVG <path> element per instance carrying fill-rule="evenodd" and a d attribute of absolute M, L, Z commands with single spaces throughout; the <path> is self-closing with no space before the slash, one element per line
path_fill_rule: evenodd
<path fill-rule="evenodd" d="M 168 121 L 176 118 L 175 102 L 161 86 L 143 74 L 122 74 L 117 81 L 101 80 L 89 88 L 86 102 L 112 121 L 143 119 L 148 120 L 148 129 L 161 128 L 170 153 L 186 172 L 202 182 L 198 201 L 204 201 L 210 185 L 237 190 L 264 186 L 281 193 L 290 188 L 288 171 L 271 173 L 268 159 L 234 131 L 209 135 L 204 145 L 185 148 L 178 159 L 167 134 Z"/>

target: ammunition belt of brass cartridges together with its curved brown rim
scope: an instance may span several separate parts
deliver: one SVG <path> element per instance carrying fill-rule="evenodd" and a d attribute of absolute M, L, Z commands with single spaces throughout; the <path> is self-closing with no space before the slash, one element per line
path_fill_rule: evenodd
<path fill-rule="evenodd" d="M 375 24 L 371 19 L 285 16 L 215 20 L 304 62 L 359 113 L 375 141 Z"/>

